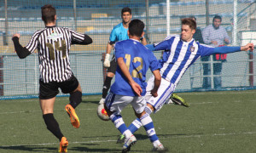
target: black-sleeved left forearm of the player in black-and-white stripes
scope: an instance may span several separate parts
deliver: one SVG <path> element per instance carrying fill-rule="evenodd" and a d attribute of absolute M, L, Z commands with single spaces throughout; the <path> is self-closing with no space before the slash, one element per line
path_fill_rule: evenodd
<path fill-rule="evenodd" d="M 16 53 L 18 54 L 18 56 L 19 56 L 20 59 L 24 59 L 24 58 L 26 58 L 26 56 L 28 56 L 28 55 L 31 54 L 31 52 L 28 51 L 27 48 L 22 47 L 22 46 L 20 45 L 19 37 L 13 37 L 12 40 L 13 40 L 13 42 L 14 42 L 14 44 L 15 44 L 15 51 L 16 51 Z"/>

